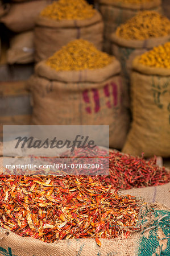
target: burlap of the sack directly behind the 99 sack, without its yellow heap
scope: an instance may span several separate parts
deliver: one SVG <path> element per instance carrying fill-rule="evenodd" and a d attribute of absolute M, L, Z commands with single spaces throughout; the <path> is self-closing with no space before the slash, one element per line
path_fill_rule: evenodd
<path fill-rule="evenodd" d="M 35 60 L 40 61 L 74 39 L 85 39 L 102 49 L 103 22 L 96 10 L 90 19 L 52 20 L 39 16 L 35 27 Z"/>

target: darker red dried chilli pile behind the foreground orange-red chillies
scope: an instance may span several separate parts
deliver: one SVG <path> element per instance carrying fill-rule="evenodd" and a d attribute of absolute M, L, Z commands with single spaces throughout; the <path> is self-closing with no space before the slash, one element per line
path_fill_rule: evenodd
<path fill-rule="evenodd" d="M 93 152 L 94 151 L 94 152 Z M 73 158 L 73 163 L 78 163 L 80 158 L 85 158 L 85 163 L 89 158 L 103 158 L 103 156 L 109 157 L 109 175 L 105 175 L 105 170 L 101 172 L 101 175 L 98 175 L 97 178 L 101 181 L 103 186 L 110 185 L 112 188 L 117 189 L 130 189 L 130 188 L 144 188 L 144 187 L 152 187 L 166 184 L 170 181 L 170 171 L 165 169 L 165 167 L 159 167 L 156 164 L 156 156 L 155 158 L 151 158 L 150 160 L 144 159 L 144 155 L 142 157 L 132 156 L 127 154 L 122 154 L 119 151 L 110 151 L 109 156 L 107 156 L 107 151 L 103 150 L 99 147 L 94 148 L 94 150 L 90 150 L 90 153 L 85 151 L 82 148 L 76 149 L 69 154 L 69 152 L 65 152 L 64 155 L 66 157 Z M 78 160 L 77 160 L 78 159 Z M 49 159 L 49 162 L 55 162 L 55 158 Z M 57 162 L 59 160 L 57 159 Z M 106 162 L 107 164 L 107 162 Z M 94 178 L 96 179 L 97 169 L 94 168 Z M 73 172 L 73 170 L 72 170 Z M 73 174 L 76 174 L 73 172 Z M 78 174 L 85 175 L 85 170 L 82 168 L 79 170 Z M 93 175 L 93 174 L 90 174 Z"/>

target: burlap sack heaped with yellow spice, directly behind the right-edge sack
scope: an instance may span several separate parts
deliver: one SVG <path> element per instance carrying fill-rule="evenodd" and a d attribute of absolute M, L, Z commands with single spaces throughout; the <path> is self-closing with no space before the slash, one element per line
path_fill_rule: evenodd
<path fill-rule="evenodd" d="M 111 35 L 112 52 L 121 62 L 125 84 L 130 83 L 132 61 L 170 40 L 170 20 L 155 11 L 142 11 Z"/>

